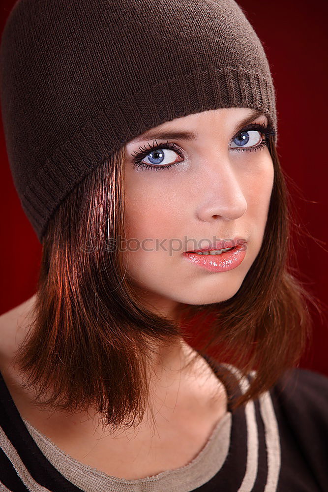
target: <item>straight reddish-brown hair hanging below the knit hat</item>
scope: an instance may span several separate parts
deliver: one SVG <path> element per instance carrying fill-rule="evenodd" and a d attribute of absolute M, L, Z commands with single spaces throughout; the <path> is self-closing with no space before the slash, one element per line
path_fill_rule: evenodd
<path fill-rule="evenodd" d="M 37 390 L 37 405 L 63 411 L 93 405 L 113 427 L 140 422 L 148 401 L 151 347 L 181 337 L 189 342 L 195 315 L 200 354 L 229 362 L 244 375 L 257 371 L 236 406 L 258 397 L 298 364 L 312 324 L 307 301 L 317 305 L 289 264 L 292 202 L 273 137 L 268 150 L 274 184 L 257 258 L 231 299 L 181 305 L 179 323 L 149 312 L 125 275 L 121 255 L 101 247 L 124 236 L 125 148 L 65 198 L 43 241 L 33 330 L 15 358 L 24 385 Z M 41 400 L 50 388 L 50 397 Z"/>

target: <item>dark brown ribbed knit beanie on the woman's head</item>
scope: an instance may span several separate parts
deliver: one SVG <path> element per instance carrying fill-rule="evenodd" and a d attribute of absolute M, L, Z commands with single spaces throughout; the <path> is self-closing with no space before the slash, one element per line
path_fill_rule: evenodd
<path fill-rule="evenodd" d="M 234 0 L 19 0 L 0 46 L 6 148 L 39 240 L 63 198 L 145 130 L 209 109 L 263 111 L 263 46 Z"/>

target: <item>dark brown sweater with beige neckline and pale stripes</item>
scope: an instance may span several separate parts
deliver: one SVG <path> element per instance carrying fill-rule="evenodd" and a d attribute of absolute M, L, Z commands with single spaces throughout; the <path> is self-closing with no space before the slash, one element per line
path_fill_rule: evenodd
<path fill-rule="evenodd" d="M 232 411 L 254 374 L 206 360 L 227 389 L 227 413 L 190 463 L 139 480 L 65 454 L 22 419 L 0 373 L 0 492 L 327 492 L 328 378 L 291 370 Z"/>

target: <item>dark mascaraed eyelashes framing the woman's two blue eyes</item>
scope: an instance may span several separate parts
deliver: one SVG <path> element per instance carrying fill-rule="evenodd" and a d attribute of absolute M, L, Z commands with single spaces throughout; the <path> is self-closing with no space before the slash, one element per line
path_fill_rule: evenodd
<path fill-rule="evenodd" d="M 253 152 L 257 151 L 260 149 L 263 149 L 265 146 L 268 146 L 268 140 L 267 137 L 270 135 L 275 135 L 275 130 L 272 125 L 266 125 L 264 123 L 250 123 L 249 125 L 245 126 L 245 128 L 242 128 L 234 137 L 232 138 L 231 142 L 240 134 L 246 131 L 250 130 L 256 130 L 259 131 L 260 133 L 263 133 L 265 135 L 265 138 L 262 139 L 262 142 L 255 147 L 247 147 L 242 149 L 241 147 L 234 147 L 234 151 L 236 152 Z M 156 142 L 156 145 L 155 145 Z M 157 144 L 157 140 L 155 140 L 152 145 L 148 144 L 148 149 L 146 147 L 139 147 L 141 152 L 139 154 L 133 153 L 135 157 L 132 159 L 133 167 L 137 167 L 138 169 L 154 169 L 155 171 L 159 171 L 160 169 L 167 169 L 170 167 L 177 166 L 180 164 L 179 162 L 175 162 L 174 164 L 167 164 L 166 166 L 151 166 L 149 164 L 145 164 L 141 162 L 145 157 L 147 157 L 148 154 L 151 152 L 155 152 L 158 149 L 168 149 L 175 151 L 177 154 L 179 154 L 180 157 L 184 157 L 182 154 L 180 148 L 178 145 L 174 144 L 173 142 L 160 142 Z"/>

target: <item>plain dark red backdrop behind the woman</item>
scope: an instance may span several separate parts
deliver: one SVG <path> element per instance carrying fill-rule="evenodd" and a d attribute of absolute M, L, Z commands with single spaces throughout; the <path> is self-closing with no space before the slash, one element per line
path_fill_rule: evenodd
<path fill-rule="evenodd" d="M 2 0 L 0 29 L 14 5 Z M 275 83 L 278 111 L 278 154 L 291 180 L 290 187 L 302 228 L 316 240 L 294 238 L 300 278 L 322 303 L 327 303 L 328 272 L 328 135 L 327 119 L 327 0 L 239 0 L 264 44 Z M 247 56 L 247 53 L 244 54 Z M 0 313 L 35 292 L 41 246 L 16 194 L 0 128 L 1 253 Z M 326 308 L 327 309 L 327 308 Z M 301 367 L 328 375 L 328 317 L 314 311 L 313 344 Z"/>

